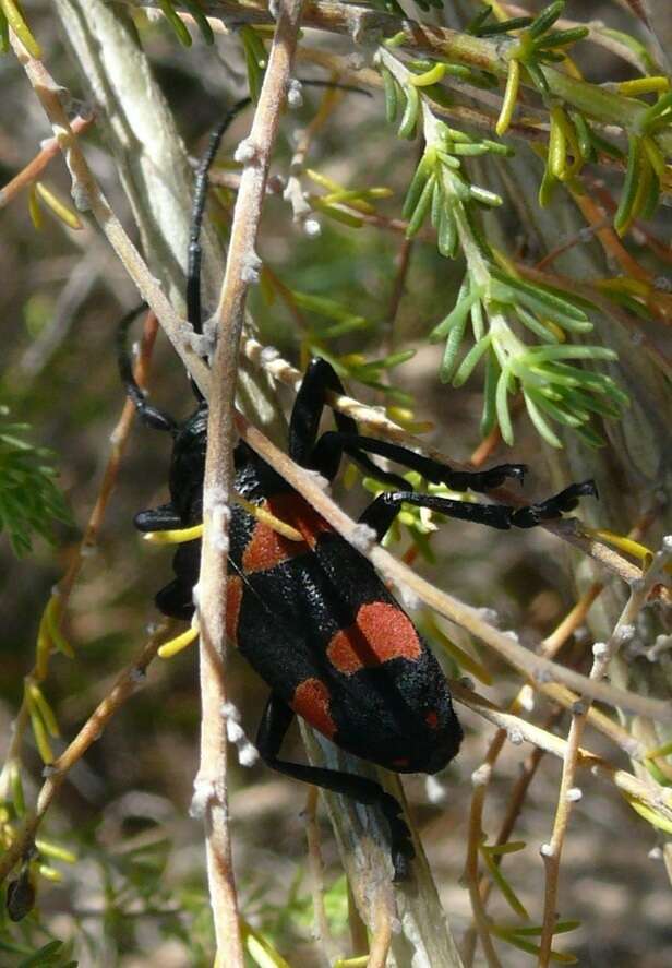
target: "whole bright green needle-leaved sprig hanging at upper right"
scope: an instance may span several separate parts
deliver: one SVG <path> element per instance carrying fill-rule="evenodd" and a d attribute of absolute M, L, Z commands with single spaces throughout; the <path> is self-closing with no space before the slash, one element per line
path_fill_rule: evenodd
<path fill-rule="evenodd" d="M 440 253 L 455 258 L 461 252 L 467 261 L 456 304 L 430 335 L 433 342 L 445 340 L 440 379 L 460 386 L 484 362 L 483 435 L 499 425 L 504 441 L 513 444 L 509 397 L 520 391 L 532 425 L 551 446 L 562 446 L 552 422 L 571 427 L 591 446 L 601 445 L 602 439 L 590 426 L 593 416 L 616 418 L 627 396 L 607 374 L 576 366 L 579 360 L 616 358 L 611 349 L 568 342 L 572 335 L 592 330 L 587 315 L 592 307 L 499 267 L 478 226 L 478 206 L 497 205 L 501 199 L 470 183 L 463 159 L 470 154 L 506 153 L 506 148 L 487 139 L 471 140 L 435 118 L 422 88 L 410 83 L 408 69 L 389 50 L 380 50 L 379 65 L 389 74 L 395 93 L 401 91 L 406 97 L 400 135 L 415 132 L 422 121 L 425 140 L 404 204 L 407 235 L 415 235 L 429 215 Z M 387 81 L 387 96 L 389 87 Z M 564 116 L 559 123 L 564 123 Z M 564 165 L 566 153 L 565 147 Z M 473 346 L 460 359 L 469 322 Z M 520 331 L 540 342 L 529 345 L 518 335 Z"/>

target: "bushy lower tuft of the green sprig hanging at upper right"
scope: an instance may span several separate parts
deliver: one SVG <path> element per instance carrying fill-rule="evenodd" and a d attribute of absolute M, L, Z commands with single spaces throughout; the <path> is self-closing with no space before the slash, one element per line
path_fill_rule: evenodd
<path fill-rule="evenodd" d="M 562 443 L 549 421 L 571 427 L 590 446 L 602 444 L 590 427 L 592 417 L 616 419 L 628 398 L 611 377 L 576 366 L 579 360 L 616 359 L 611 349 L 567 342 L 571 334 L 592 330 L 588 308 L 584 300 L 495 266 L 490 267 L 487 285 L 475 285 L 467 274 L 454 309 L 432 330 L 430 339 L 445 339 L 440 369 L 444 383 L 461 386 L 484 359 L 483 435 L 497 423 L 504 441 L 513 443 L 509 396 L 520 391 L 530 420 L 551 446 Z M 469 321 L 475 344 L 458 360 Z M 524 343 L 514 324 L 542 342 Z"/>

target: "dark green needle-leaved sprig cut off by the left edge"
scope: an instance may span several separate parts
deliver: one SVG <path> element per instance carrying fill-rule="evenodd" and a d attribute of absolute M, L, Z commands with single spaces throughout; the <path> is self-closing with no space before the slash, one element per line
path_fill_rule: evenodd
<path fill-rule="evenodd" d="M 9 535 L 16 557 L 32 550 L 32 536 L 52 542 L 55 521 L 71 522 L 65 500 L 55 483 L 51 451 L 22 439 L 26 423 L 10 423 L 0 407 L 0 531 Z"/>

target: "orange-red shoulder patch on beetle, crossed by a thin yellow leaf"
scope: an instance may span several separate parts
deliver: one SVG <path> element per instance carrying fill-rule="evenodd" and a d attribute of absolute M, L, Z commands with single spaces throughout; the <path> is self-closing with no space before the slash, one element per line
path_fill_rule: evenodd
<path fill-rule="evenodd" d="M 315 547 L 320 534 L 332 530 L 327 522 L 299 494 L 275 494 L 261 506 L 300 531 L 303 541 L 290 541 L 257 521 L 242 557 L 243 571 L 248 574 L 266 572 L 299 554 L 308 554 Z"/>

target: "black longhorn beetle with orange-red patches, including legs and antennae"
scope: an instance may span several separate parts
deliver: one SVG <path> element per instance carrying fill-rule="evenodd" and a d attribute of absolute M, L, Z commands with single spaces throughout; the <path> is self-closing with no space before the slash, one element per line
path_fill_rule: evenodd
<path fill-rule="evenodd" d="M 196 333 L 202 332 L 200 231 L 207 171 L 227 124 L 247 103 L 239 101 L 214 132 L 196 174 L 187 279 L 188 319 Z M 201 541 L 187 540 L 193 531 L 185 529 L 202 522 L 207 403 L 193 381 L 197 406 L 184 422 L 146 402 L 125 348 L 135 314 L 129 314 L 119 328 L 121 379 L 142 421 L 172 437 L 170 501 L 142 511 L 135 526 L 141 531 L 178 531 L 176 539 L 182 543 L 172 563 L 175 578 L 157 594 L 156 605 L 165 616 L 189 620 L 194 614 Z M 403 477 L 383 470 L 369 455 L 404 465 L 428 481 L 479 493 L 507 478 L 523 482 L 526 467 L 502 464 L 475 473 L 452 470 L 407 447 L 363 437 L 355 420 L 337 410 L 336 430 L 319 435 L 328 391 L 341 394 L 344 387 L 328 362 L 313 359 L 291 411 L 289 455 L 331 482 L 346 454 L 395 487 L 380 494 L 359 518 L 377 540 L 404 503 L 506 529 L 535 527 L 572 511 L 580 497 L 597 495 L 592 481 L 571 485 L 547 501 L 523 507 L 416 493 Z M 248 510 L 239 504 L 231 507 L 227 634 L 271 688 L 256 737 L 259 752 L 268 766 L 287 776 L 377 806 L 389 827 L 395 880 L 404 880 L 413 847 L 397 800 L 371 779 L 281 760 L 280 746 L 298 715 L 362 760 L 397 773 L 437 773 L 457 754 L 463 738 L 447 682 L 368 559 L 244 442 L 237 445 L 233 458 L 236 490 Z M 254 509 L 257 513 L 250 513 Z M 300 540 L 279 534 L 268 524 L 268 512 L 276 522 L 290 524 Z"/>

